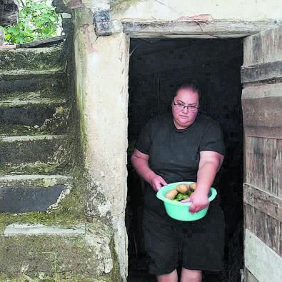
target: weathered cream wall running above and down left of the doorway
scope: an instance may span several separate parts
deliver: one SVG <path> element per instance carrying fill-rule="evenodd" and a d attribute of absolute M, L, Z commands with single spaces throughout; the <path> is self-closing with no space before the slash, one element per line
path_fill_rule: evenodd
<path fill-rule="evenodd" d="M 121 277 L 127 272 L 127 76 L 129 42 L 117 33 L 97 37 L 94 13 L 111 10 L 117 21 L 263 21 L 281 19 L 281 1 L 63 0 L 75 9 L 76 91 L 89 187 L 88 216 L 115 229 Z M 201 16 L 206 15 L 206 16 Z M 121 31 L 121 30 L 120 30 Z"/>

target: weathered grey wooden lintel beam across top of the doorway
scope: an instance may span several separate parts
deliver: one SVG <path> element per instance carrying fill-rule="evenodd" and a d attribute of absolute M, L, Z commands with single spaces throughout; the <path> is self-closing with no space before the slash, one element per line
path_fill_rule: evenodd
<path fill-rule="evenodd" d="M 244 37 L 277 27 L 273 21 L 124 21 L 124 32 L 131 37 L 206 35 Z"/>

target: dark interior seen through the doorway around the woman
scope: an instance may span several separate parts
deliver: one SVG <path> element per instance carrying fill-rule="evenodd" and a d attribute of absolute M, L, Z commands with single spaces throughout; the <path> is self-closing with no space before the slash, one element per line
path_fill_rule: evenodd
<path fill-rule="evenodd" d="M 243 268 L 243 122 L 240 67 L 242 39 L 131 39 L 129 65 L 129 150 L 126 227 L 129 281 L 146 276 L 148 258 L 141 232 L 142 181 L 130 163 L 134 143 L 148 119 L 171 111 L 177 86 L 196 82 L 201 111 L 221 124 L 226 156 L 214 187 L 226 218 L 225 272 L 205 281 L 241 281 Z M 151 279 L 151 280 L 150 280 Z"/>

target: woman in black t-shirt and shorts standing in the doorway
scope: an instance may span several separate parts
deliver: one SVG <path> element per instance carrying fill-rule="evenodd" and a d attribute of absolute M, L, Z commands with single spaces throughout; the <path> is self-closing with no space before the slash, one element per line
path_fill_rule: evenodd
<path fill-rule="evenodd" d="M 201 281 L 202 271 L 223 267 L 224 219 L 213 201 L 199 221 L 176 221 L 167 216 L 156 198 L 162 186 L 178 181 L 197 182 L 189 211 L 208 206 L 208 191 L 221 167 L 224 143 L 221 129 L 199 113 L 198 89 L 181 86 L 173 97 L 172 114 L 158 116 L 143 128 L 131 162 L 148 183 L 144 194 L 143 231 L 150 256 L 149 272 L 158 281 L 176 282 L 181 263 L 181 281 Z"/>

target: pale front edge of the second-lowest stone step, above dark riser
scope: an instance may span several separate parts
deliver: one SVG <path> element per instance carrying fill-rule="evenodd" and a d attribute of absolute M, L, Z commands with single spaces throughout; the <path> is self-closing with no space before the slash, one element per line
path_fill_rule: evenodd
<path fill-rule="evenodd" d="M 12 185 L 22 186 L 44 186 L 51 187 L 58 184 L 70 186 L 73 181 L 72 176 L 64 176 L 61 174 L 14 174 L 0 176 L 0 189 Z"/>

